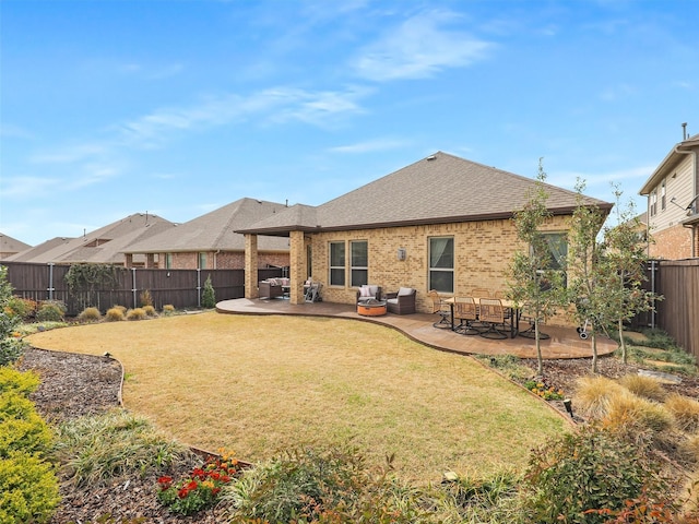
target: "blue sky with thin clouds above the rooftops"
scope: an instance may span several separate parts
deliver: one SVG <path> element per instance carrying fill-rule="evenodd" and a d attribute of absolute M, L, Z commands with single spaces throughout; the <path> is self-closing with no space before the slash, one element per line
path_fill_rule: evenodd
<path fill-rule="evenodd" d="M 695 0 L 3 0 L 0 233 L 318 205 L 436 151 L 613 201 L 699 133 Z M 469 199 L 469 188 L 454 188 Z M 391 195 L 386 195 L 387 205 Z"/>

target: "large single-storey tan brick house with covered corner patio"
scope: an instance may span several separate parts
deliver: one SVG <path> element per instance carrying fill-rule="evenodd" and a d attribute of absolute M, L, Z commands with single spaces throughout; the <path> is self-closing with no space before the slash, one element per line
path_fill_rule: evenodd
<path fill-rule="evenodd" d="M 304 282 L 320 282 L 322 299 L 354 303 L 357 287 L 417 289 L 417 310 L 431 311 L 427 291 L 467 295 L 507 289 L 517 250 L 512 215 L 536 181 L 438 152 L 318 207 L 295 205 L 251 227 L 258 237 L 291 239 L 291 301 L 304 301 Z M 577 193 L 547 186 L 552 253 L 565 257 Z M 608 213 L 611 203 L 583 198 Z M 261 241 L 261 240 L 260 240 Z M 249 253 L 253 261 L 256 253 Z M 246 265 L 246 295 L 257 295 L 254 265 Z"/>

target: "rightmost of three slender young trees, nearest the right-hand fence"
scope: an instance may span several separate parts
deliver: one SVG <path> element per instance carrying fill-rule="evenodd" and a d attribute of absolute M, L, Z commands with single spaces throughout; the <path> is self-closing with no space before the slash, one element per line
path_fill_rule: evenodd
<path fill-rule="evenodd" d="M 609 277 L 616 276 L 615 289 L 609 294 L 609 301 L 616 313 L 621 360 L 626 364 L 628 355 L 624 338 L 624 322 L 641 311 L 652 309 L 653 301 L 662 297 L 645 291 L 642 287 L 643 282 L 648 279 L 645 274 L 648 242 L 639 237 L 641 227 L 633 202 L 629 202 L 626 209 L 621 210 L 621 191 L 617 184 L 613 184 L 613 188 L 616 198 L 617 225 L 605 228 L 605 257 L 609 265 L 616 269 L 616 273 L 609 275 Z"/>

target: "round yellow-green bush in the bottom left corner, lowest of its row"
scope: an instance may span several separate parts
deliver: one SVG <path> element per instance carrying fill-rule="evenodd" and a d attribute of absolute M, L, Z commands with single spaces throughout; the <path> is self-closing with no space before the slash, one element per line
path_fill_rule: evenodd
<path fill-rule="evenodd" d="M 60 502 L 50 464 L 28 453 L 0 461 L 0 522 L 49 522 Z"/>

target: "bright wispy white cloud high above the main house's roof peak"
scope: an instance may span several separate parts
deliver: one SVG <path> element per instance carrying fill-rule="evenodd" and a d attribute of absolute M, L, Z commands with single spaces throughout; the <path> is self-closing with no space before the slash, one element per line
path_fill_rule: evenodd
<path fill-rule="evenodd" d="M 384 82 L 425 79 L 448 68 L 482 60 L 491 44 L 442 26 L 457 15 L 431 11 L 406 20 L 380 40 L 365 47 L 354 68 L 362 78 Z"/>

